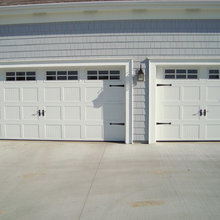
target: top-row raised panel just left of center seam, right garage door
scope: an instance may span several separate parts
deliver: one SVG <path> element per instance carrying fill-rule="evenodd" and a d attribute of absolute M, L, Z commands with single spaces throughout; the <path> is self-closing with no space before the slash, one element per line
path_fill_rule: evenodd
<path fill-rule="evenodd" d="M 183 87 L 183 100 L 184 101 L 199 101 L 200 100 L 200 87 L 199 86 Z"/>

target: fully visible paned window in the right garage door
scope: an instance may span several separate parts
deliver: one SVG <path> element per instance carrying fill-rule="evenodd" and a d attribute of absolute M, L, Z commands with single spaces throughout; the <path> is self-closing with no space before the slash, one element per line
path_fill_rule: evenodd
<path fill-rule="evenodd" d="M 196 69 L 166 69 L 165 79 L 197 79 L 198 70 Z"/>

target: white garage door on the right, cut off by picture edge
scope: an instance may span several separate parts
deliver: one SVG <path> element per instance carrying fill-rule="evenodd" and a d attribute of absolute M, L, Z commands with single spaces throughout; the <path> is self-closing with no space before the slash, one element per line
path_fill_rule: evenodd
<path fill-rule="evenodd" d="M 220 140 L 218 68 L 165 68 L 156 86 L 157 141 Z"/>

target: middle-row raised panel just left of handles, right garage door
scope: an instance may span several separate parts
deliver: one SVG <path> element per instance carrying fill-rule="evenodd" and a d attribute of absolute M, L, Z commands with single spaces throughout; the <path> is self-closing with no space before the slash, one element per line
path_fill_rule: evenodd
<path fill-rule="evenodd" d="M 183 106 L 182 107 L 183 120 L 199 120 L 200 118 L 199 110 L 200 110 L 200 106 L 193 106 L 193 105 Z"/>

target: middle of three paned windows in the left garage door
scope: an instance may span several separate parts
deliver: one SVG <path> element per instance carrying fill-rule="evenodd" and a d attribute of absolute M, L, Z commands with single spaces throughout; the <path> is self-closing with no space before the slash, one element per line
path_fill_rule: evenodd
<path fill-rule="evenodd" d="M 78 80 L 77 71 L 47 71 L 46 80 Z"/>

